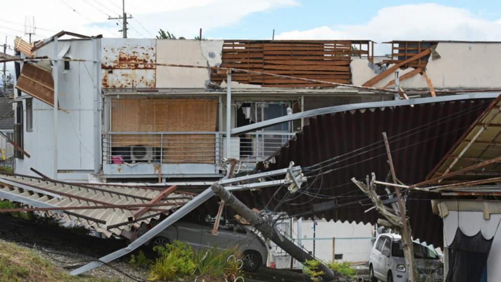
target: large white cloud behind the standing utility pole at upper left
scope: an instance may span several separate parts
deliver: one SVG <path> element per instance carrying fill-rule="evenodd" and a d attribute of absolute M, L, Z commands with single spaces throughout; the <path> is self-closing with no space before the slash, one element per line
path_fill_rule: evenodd
<path fill-rule="evenodd" d="M 117 25 L 117 20 L 107 19 L 108 16 L 117 17 L 122 13 L 120 0 L 4 2 L 0 18 L 2 43 L 5 35 L 9 36 L 9 44 L 12 44 L 16 35 L 28 38 L 24 35 L 25 16 L 35 17 L 36 27 L 39 28 L 35 40 L 61 30 L 121 37 L 118 31 L 121 25 Z M 199 28 L 210 31 L 236 24 L 242 17 L 254 12 L 295 5 L 299 5 L 295 0 L 126 0 L 125 11 L 134 17 L 128 20 L 129 37 L 153 37 L 162 28 L 176 36 L 192 38 L 198 34 Z"/>

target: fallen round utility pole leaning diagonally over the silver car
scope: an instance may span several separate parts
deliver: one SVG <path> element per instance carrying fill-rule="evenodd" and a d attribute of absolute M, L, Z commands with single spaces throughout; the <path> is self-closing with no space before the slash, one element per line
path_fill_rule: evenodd
<path fill-rule="evenodd" d="M 211 190 L 217 197 L 224 201 L 224 204 L 230 206 L 240 216 L 246 219 L 252 226 L 256 227 L 263 236 L 269 238 L 277 244 L 282 250 L 289 253 L 297 261 L 304 263 L 306 260 L 315 260 L 315 258 L 303 249 L 284 238 L 278 231 L 275 224 L 268 224 L 268 221 L 261 217 L 258 213 L 252 211 L 245 206 L 240 200 L 233 196 L 228 190 L 224 189 L 220 184 L 214 183 Z M 324 264 L 320 264 L 318 269 L 324 272 L 322 278 L 326 281 L 331 281 L 336 278 L 334 271 Z"/>

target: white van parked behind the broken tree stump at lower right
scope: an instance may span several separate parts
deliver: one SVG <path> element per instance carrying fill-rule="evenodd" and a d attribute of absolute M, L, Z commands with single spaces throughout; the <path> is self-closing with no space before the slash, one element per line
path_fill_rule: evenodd
<path fill-rule="evenodd" d="M 441 282 L 444 266 L 441 255 L 429 246 L 413 241 L 414 258 L 422 281 Z M 369 259 L 369 277 L 371 282 L 407 281 L 408 271 L 402 249 L 400 235 L 380 234 L 372 247 Z"/>

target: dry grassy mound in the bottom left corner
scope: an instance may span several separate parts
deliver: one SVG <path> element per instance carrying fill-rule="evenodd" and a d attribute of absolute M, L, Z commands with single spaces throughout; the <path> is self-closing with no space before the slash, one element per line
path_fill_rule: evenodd
<path fill-rule="evenodd" d="M 0 282 L 116 282 L 77 277 L 40 257 L 29 248 L 0 241 Z"/>

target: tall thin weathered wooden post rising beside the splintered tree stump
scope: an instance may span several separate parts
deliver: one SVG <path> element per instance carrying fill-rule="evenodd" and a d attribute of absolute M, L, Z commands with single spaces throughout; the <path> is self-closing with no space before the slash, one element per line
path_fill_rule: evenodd
<path fill-rule="evenodd" d="M 392 153 L 390 151 L 390 144 L 388 143 L 388 137 L 386 133 L 383 132 L 384 146 L 386 147 L 386 155 L 388 155 L 388 163 L 390 164 L 390 171 L 392 172 L 393 183 L 397 183 L 397 177 L 395 175 L 395 167 L 393 166 Z M 375 190 L 373 190 L 374 193 Z M 407 265 L 407 271 L 409 273 L 409 281 L 416 281 L 418 277 L 416 262 L 414 260 L 414 250 L 411 237 L 411 226 L 407 223 L 405 218 L 405 208 L 402 203 L 402 197 L 400 196 L 400 189 L 395 187 L 395 194 L 398 201 L 398 213 L 400 214 L 400 219 L 402 221 L 402 229 L 399 230 L 402 235 L 402 249 L 405 255 L 405 264 Z M 395 211 L 396 212 L 396 211 Z"/>

